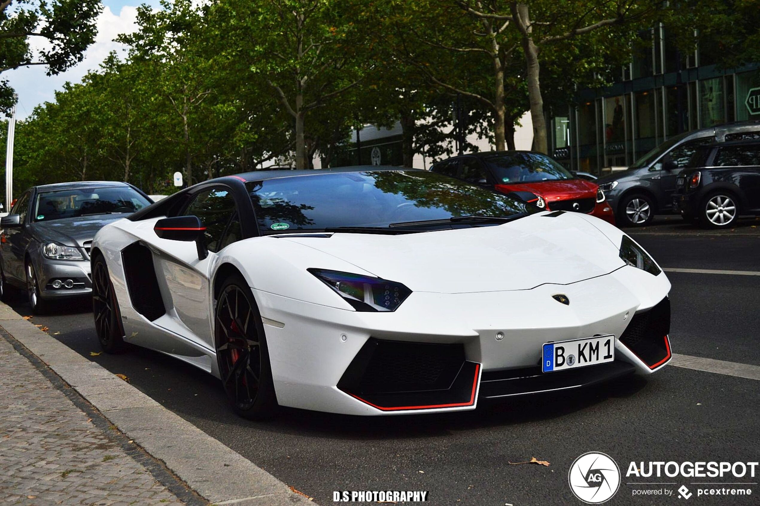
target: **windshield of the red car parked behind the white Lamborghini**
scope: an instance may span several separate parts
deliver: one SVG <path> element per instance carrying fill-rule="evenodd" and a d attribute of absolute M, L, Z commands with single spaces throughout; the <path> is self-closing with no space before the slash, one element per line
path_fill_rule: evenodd
<path fill-rule="evenodd" d="M 504 153 L 483 158 L 497 183 L 540 183 L 576 179 L 565 167 L 545 154 Z"/>

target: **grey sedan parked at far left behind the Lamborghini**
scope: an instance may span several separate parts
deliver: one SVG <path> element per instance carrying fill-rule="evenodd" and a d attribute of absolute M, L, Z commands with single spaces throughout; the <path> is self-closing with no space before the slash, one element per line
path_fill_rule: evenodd
<path fill-rule="evenodd" d="M 128 183 L 81 181 L 33 186 L 0 218 L 0 297 L 24 289 L 33 313 L 55 299 L 90 294 L 90 244 L 111 221 L 150 205 Z"/>

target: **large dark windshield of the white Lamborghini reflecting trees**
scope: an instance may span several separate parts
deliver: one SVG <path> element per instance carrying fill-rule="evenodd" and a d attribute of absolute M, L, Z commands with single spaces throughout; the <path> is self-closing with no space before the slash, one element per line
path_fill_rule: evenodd
<path fill-rule="evenodd" d="M 246 186 L 261 234 L 341 227 L 397 230 L 388 225 L 475 215 L 518 218 L 540 211 L 482 186 L 424 170 L 315 173 Z"/>

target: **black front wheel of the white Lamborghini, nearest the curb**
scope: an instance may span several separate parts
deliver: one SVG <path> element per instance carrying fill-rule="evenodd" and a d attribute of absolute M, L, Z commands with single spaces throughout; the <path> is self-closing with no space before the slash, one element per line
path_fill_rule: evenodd
<path fill-rule="evenodd" d="M 251 289 L 240 275 L 230 275 L 222 282 L 214 340 L 220 378 L 233 409 L 252 420 L 274 415 L 277 396 L 264 325 Z"/>

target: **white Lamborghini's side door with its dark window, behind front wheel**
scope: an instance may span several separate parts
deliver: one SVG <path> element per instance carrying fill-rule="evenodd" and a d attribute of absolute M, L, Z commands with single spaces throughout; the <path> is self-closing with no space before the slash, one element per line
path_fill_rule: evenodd
<path fill-rule="evenodd" d="M 201 219 L 209 253 L 198 259 L 195 244 L 157 239 L 156 245 L 160 247 L 155 263 L 157 278 L 170 309 L 155 323 L 213 349 L 209 273 L 220 251 L 242 237 L 235 200 L 226 186 L 202 188 L 177 215 Z"/>

